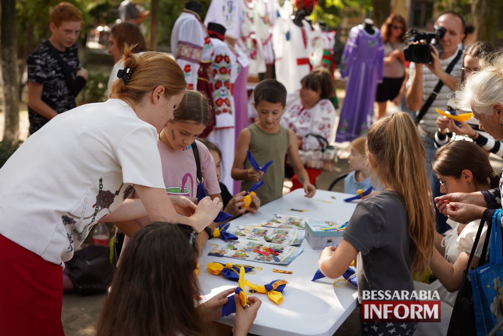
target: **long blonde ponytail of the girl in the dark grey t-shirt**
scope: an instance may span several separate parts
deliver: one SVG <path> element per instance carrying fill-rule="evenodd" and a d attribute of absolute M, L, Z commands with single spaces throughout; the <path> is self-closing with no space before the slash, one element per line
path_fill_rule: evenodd
<path fill-rule="evenodd" d="M 408 233 L 415 247 L 412 270 L 425 270 L 435 248 L 436 224 L 421 136 L 410 116 L 397 112 L 369 128 L 366 148 L 375 161 L 376 177 L 403 197 Z"/>

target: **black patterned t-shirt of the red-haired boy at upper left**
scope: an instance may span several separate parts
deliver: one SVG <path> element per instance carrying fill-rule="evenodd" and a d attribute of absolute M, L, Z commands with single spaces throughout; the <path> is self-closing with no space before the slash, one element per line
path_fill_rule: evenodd
<path fill-rule="evenodd" d="M 73 44 L 59 55 L 68 65 L 75 70 L 81 68 L 78 61 L 77 45 Z M 42 101 L 54 109 L 57 113 L 62 113 L 75 108 L 75 97 L 71 93 L 66 83 L 63 70 L 52 51 L 43 42 L 28 56 L 28 80 L 33 83 L 43 84 Z M 45 125 L 49 119 L 38 114 L 28 106 L 28 117 L 30 119 L 30 134 L 36 132 Z"/>

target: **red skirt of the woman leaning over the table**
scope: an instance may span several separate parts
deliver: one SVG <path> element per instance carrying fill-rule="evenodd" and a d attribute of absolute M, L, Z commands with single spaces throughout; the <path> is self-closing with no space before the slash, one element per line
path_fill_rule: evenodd
<path fill-rule="evenodd" d="M 0 234 L 0 335 L 64 336 L 63 268 Z"/>

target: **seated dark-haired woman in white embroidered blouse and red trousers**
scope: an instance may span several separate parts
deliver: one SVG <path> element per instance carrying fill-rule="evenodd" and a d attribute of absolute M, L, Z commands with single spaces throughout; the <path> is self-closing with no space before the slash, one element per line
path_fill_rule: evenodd
<path fill-rule="evenodd" d="M 319 141 L 309 134 L 319 135 L 328 143 L 332 139 L 336 110 L 330 96 L 333 82 L 330 72 L 316 69 L 301 80 L 302 88 L 287 96 L 285 112 L 280 124 L 291 129 L 299 140 L 299 149 L 303 151 L 320 149 Z M 306 168 L 311 184 L 321 173 L 319 169 Z M 301 188 L 302 184 L 293 177 L 291 190 Z"/>

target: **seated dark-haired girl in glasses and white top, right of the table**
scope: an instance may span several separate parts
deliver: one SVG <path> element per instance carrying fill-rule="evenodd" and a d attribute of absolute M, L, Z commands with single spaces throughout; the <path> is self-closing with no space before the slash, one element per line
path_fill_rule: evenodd
<path fill-rule="evenodd" d="M 442 193 L 470 193 L 498 187 L 499 177 L 492 170 L 487 155 L 469 141 L 455 141 L 439 149 L 435 153 L 432 168 L 440 180 Z M 415 288 L 436 290 L 442 301 L 453 306 L 477 235 L 479 221 L 462 224 L 449 219 L 447 224 L 453 229 L 446 236 L 436 234 L 436 249 L 431 261 L 431 269 L 437 280 L 429 285 L 416 282 Z M 481 257 L 481 242 L 485 239 L 486 231 L 487 226 L 484 226 L 472 260 L 474 267 L 478 265 Z"/>

